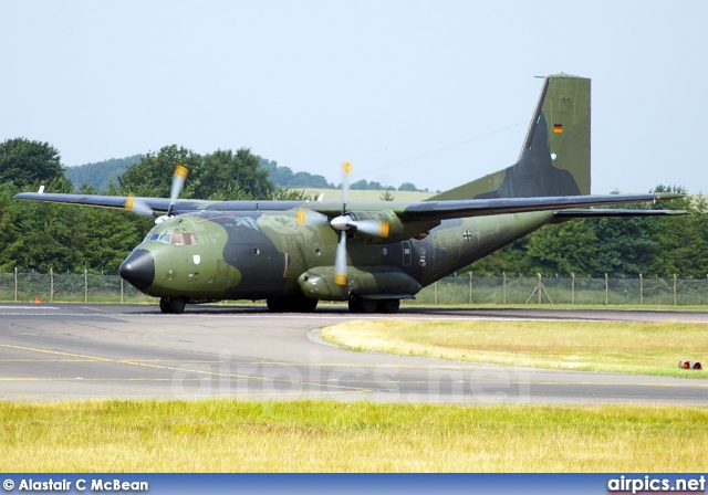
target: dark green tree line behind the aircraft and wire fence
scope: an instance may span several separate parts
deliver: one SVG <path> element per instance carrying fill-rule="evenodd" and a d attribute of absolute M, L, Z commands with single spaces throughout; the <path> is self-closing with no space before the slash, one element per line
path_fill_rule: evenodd
<path fill-rule="evenodd" d="M 105 190 L 75 188 L 48 143 L 25 138 L 0 144 L 0 271 L 116 273 L 121 262 L 153 227 L 153 220 L 101 208 L 15 201 L 20 191 L 45 185 L 52 192 L 169 197 L 175 164 L 189 169 L 183 198 L 303 199 L 302 192 L 274 185 L 275 162 L 249 149 L 199 155 L 173 145 L 131 157 Z M 270 164 L 264 167 L 263 162 Z M 321 176 L 319 176 L 321 177 Z M 322 178 L 324 179 L 324 178 Z M 400 189 L 403 190 L 403 189 Z M 657 186 L 656 192 L 684 192 Z M 584 219 L 548 225 L 497 251 L 467 271 L 500 275 L 705 277 L 708 273 L 708 204 L 704 197 L 634 208 L 681 209 L 689 217 Z"/>

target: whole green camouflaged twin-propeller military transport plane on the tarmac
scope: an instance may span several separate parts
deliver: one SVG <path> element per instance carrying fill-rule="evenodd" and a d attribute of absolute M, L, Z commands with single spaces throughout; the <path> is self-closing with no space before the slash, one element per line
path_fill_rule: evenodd
<path fill-rule="evenodd" d="M 23 192 L 17 199 L 126 208 L 156 225 L 121 276 L 159 297 L 163 313 L 219 299 L 266 299 L 273 312 L 348 301 L 395 313 L 400 299 L 550 223 L 591 217 L 686 214 L 591 207 L 680 194 L 590 194 L 590 80 L 544 78 L 516 165 L 420 202 L 179 200 Z M 459 173 L 461 170 L 457 170 Z"/>

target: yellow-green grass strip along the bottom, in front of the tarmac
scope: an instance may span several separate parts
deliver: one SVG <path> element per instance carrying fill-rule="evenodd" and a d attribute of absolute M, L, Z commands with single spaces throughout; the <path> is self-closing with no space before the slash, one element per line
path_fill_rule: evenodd
<path fill-rule="evenodd" d="M 0 402 L 2 472 L 698 472 L 708 409 Z"/>

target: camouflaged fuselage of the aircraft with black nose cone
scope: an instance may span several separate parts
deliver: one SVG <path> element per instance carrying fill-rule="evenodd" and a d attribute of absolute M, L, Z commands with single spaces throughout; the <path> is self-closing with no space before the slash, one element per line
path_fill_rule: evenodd
<path fill-rule="evenodd" d="M 444 220 L 425 239 L 350 242 L 347 285 L 331 280 L 337 233 L 296 211 L 200 211 L 157 224 L 121 266 L 154 297 L 346 301 L 413 297 L 420 288 L 548 223 L 532 212 Z"/>

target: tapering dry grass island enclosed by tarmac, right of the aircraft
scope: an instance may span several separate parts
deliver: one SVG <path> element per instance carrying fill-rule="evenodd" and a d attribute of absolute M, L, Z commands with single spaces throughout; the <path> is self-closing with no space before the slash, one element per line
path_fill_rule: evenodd
<path fill-rule="evenodd" d="M 352 350 L 522 367 L 708 378 L 708 324 L 634 322 L 345 322 L 322 337 Z"/>

